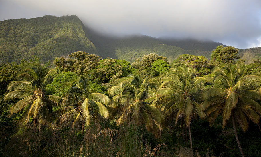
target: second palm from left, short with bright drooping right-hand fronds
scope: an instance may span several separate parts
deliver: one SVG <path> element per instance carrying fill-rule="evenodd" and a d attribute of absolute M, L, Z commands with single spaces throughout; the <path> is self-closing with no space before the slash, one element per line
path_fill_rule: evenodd
<path fill-rule="evenodd" d="M 73 127 L 82 128 L 84 134 L 84 127 L 94 120 L 96 110 L 104 118 L 109 116 L 106 105 L 110 104 L 110 98 L 101 93 L 92 93 L 86 76 L 67 80 L 64 87 L 70 89 L 63 96 L 49 96 L 50 100 L 62 106 L 52 113 L 56 124 L 64 125 L 73 121 Z"/>

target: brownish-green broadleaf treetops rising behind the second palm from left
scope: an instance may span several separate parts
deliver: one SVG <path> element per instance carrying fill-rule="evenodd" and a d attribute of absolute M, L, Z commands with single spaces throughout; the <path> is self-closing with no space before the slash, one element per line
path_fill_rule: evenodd
<path fill-rule="evenodd" d="M 74 52 L 69 57 L 67 59 L 59 57 L 54 60 L 59 72 L 73 71 L 76 75 L 86 75 L 94 84 L 103 85 L 106 89 L 110 85 L 115 85 L 121 77 L 137 71 L 125 60 L 102 59 L 98 55 L 82 51 Z"/>

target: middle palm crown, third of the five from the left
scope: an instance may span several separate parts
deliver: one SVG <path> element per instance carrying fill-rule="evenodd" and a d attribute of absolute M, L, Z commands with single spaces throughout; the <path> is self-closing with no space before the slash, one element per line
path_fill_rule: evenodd
<path fill-rule="evenodd" d="M 146 129 L 159 137 L 156 123 L 164 122 L 164 116 L 155 106 L 145 102 L 148 98 L 148 88 L 151 84 L 139 75 L 130 75 L 123 79 L 119 86 L 109 88 L 112 104 L 110 107 L 120 113 L 117 124 L 133 121 L 135 124 L 145 124 Z"/>

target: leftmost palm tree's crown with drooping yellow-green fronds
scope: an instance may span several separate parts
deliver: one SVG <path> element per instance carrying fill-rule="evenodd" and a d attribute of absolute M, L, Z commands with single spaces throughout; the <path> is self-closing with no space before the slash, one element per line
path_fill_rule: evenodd
<path fill-rule="evenodd" d="M 55 69 L 48 71 L 47 68 L 40 64 L 28 66 L 17 73 L 17 81 L 12 81 L 7 86 L 8 94 L 5 100 L 21 99 L 15 103 L 11 109 L 11 114 L 22 111 L 25 112 L 21 116 L 21 122 L 28 123 L 33 117 L 36 124 L 39 120 L 44 123 L 48 119 L 50 105 L 46 103 L 46 84 L 51 78 Z"/>

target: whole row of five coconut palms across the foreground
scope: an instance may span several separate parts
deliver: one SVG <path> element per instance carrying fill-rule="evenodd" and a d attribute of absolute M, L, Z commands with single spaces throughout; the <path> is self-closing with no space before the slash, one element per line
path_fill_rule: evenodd
<path fill-rule="evenodd" d="M 46 71 L 40 65 L 27 67 L 17 74 L 18 81 L 9 83 L 5 99 L 21 99 L 10 112 L 25 109 L 22 122 L 27 123 L 32 118 L 35 126 L 48 120 L 58 126 L 71 123 L 84 133 L 84 128 L 96 116 L 102 116 L 114 118 L 118 125 L 124 122 L 145 124 L 148 131 L 160 137 L 161 127 L 180 121 L 182 128 L 185 125 L 189 130 L 192 151 L 191 121 L 202 118 L 213 124 L 217 116 L 222 115 L 223 128 L 232 120 L 236 141 L 244 156 L 236 123 L 246 131 L 248 120 L 255 124 L 260 120 L 260 91 L 248 89 L 248 85 L 261 79 L 256 75 L 241 77 L 238 65 L 216 67 L 215 77 L 196 77 L 195 69 L 184 64 L 174 65 L 153 79 L 131 74 L 122 78 L 118 86 L 108 89 L 110 97 L 92 93 L 88 78 L 84 76 L 68 80 L 64 86 L 69 90 L 63 96 L 46 96 L 44 88 L 54 71 Z M 211 87 L 206 88 L 205 84 Z M 52 112 L 54 104 L 58 109 Z"/>

